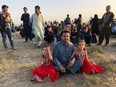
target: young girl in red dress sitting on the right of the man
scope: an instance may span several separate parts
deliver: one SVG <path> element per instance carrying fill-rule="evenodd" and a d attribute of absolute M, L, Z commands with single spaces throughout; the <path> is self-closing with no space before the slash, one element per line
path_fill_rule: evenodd
<path fill-rule="evenodd" d="M 72 57 L 75 57 L 78 60 L 82 60 L 83 62 L 80 71 L 86 74 L 102 73 L 104 71 L 103 67 L 89 61 L 85 45 L 85 41 L 80 40 L 77 49 L 72 54 Z"/>

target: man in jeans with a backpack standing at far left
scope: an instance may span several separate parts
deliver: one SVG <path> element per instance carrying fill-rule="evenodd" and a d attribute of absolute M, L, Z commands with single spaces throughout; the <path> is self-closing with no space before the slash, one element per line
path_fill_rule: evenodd
<path fill-rule="evenodd" d="M 9 38 L 12 50 L 15 50 L 14 42 L 13 42 L 13 38 L 12 38 L 12 34 L 11 34 L 12 19 L 11 19 L 10 13 L 8 12 L 8 6 L 7 5 L 2 5 L 2 11 L 0 12 L 0 15 L 1 15 L 1 18 L 2 18 L 1 23 L 3 23 L 3 24 L 0 24 L 0 28 L 1 28 L 0 32 L 1 32 L 4 48 L 5 49 L 8 48 L 7 43 L 6 43 L 6 35 L 7 35 L 8 38 Z"/>

